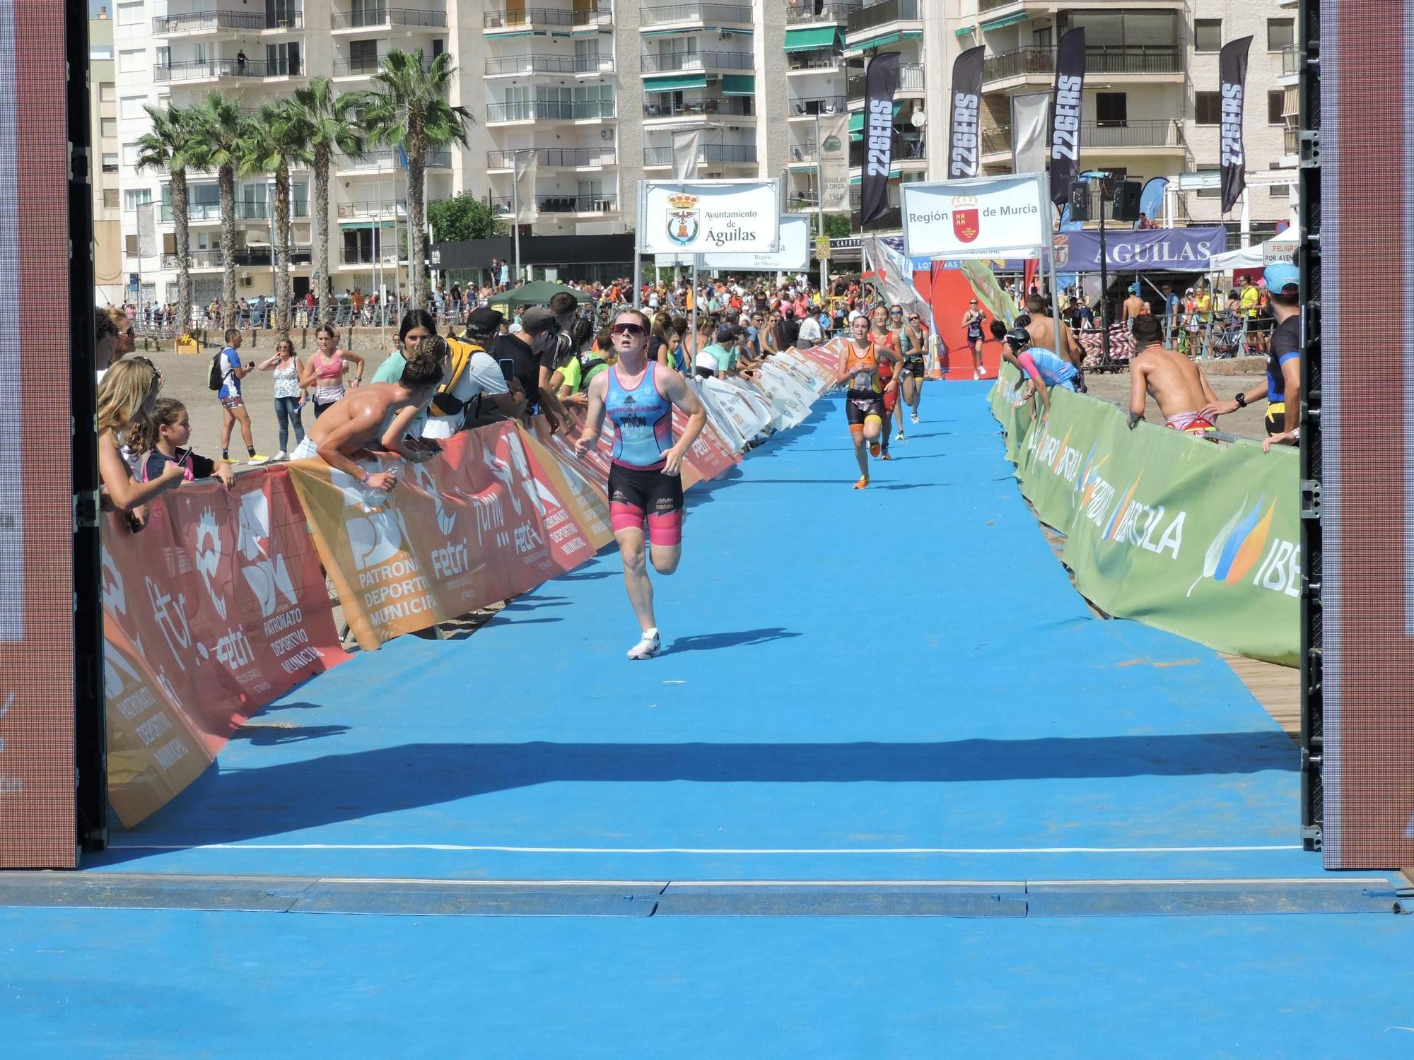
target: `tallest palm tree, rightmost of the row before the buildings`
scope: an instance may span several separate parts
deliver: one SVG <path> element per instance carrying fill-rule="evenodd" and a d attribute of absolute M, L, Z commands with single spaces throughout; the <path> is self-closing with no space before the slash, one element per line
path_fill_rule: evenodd
<path fill-rule="evenodd" d="M 467 123 L 472 120 L 467 107 L 447 102 L 454 73 L 447 52 L 426 62 L 421 48 L 413 52 L 393 49 L 383 57 L 379 72 L 373 75 L 378 89 L 363 109 L 363 122 L 373 140 L 407 154 L 407 228 L 411 243 L 407 294 L 417 308 L 423 307 L 427 290 L 423 211 L 427 151 L 451 144 L 465 146 Z"/>

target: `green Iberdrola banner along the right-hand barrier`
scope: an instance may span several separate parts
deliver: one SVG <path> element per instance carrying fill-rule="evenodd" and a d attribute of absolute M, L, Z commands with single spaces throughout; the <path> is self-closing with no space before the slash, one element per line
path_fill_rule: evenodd
<path fill-rule="evenodd" d="M 1021 401 L 1010 366 L 991 408 L 1021 492 L 1066 534 L 1062 561 L 1102 611 L 1212 647 L 1295 666 L 1301 546 L 1297 454 L 1219 447 L 1113 404 L 1051 391 Z"/>

